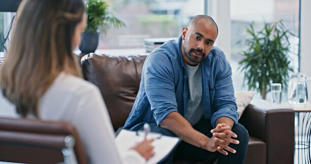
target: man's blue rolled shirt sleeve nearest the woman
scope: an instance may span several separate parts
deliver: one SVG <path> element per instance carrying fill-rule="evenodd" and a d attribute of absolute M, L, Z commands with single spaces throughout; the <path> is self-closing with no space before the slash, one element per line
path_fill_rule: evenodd
<path fill-rule="evenodd" d="M 178 112 L 173 71 L 171 60 L 163 53 L 152 53 L 145 60 L 144 87 L 158 125 L 169 113 Z"/>

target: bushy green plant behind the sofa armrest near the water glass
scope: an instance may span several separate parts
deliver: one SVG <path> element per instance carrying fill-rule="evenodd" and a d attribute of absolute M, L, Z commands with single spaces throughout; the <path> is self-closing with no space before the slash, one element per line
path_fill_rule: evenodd
<path fill-rule="evenodd" d="M 266 99 L 270 83 L 281 83 L 287 87 L 288 74 L 293 72 L 288 56 L 289 36 L 294 35 L 285 28 L 282 20 L 265 23 L 264 28 L 258 32 L 252 23 L 247 33 L 251 38 L 245 41 L 248 49 L 242 52 L 239 69 L 244 72 L 244 83 L 246 81 L 248 89 L 259 91 L 262 98 Z"/>

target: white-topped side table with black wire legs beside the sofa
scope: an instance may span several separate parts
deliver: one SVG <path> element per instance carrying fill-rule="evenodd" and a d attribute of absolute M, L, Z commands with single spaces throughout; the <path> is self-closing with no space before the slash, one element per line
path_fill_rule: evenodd
<path fill-rule="evenodd" d="M 294 163 L 311 163 L 311 103 L 298 108 L 287 102 L 281 103 L 295 111 L 295 158 Z"/>

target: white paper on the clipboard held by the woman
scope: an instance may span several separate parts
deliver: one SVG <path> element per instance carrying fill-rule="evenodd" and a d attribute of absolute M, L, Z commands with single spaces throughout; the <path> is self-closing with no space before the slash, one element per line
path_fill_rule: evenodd
<path fill-rule="evenodd" d="M 149 133 L 147 138 L 154 138 L 154 156 L 147 163 L 158 163 L 168 155 L 176 144 L 180 141 L 177 137 L 162 136 L 157 133 Z M 131 147 L 144 140 L 143 135 L 137 135 L 137 132 L 122 129 L 115 139 L 116 146 L 121 154 L 125 154 Z"/>

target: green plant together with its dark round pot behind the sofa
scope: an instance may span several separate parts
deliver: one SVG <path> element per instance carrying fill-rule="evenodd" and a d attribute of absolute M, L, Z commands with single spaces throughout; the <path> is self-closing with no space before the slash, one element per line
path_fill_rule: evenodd
<path fill-rule="evenodd" d="M 86 3 L 87 27 L 82 32 L 79 49 L 82 53 L 94 52 L 98 47 L 99 29 L 106 34 L 111 27 L 123 27 L 125 24 L 108 11 L 108 4 L 101 0 L 88 0 Z"/>

